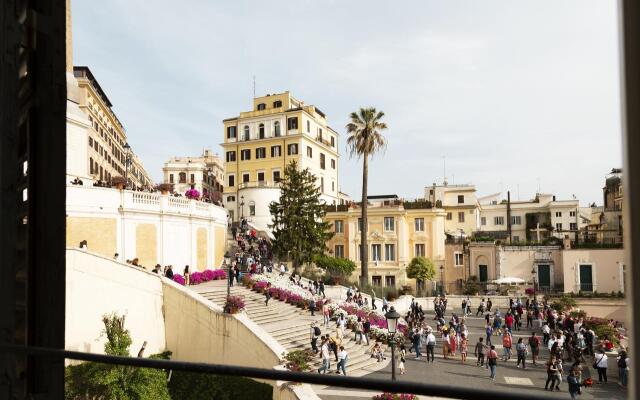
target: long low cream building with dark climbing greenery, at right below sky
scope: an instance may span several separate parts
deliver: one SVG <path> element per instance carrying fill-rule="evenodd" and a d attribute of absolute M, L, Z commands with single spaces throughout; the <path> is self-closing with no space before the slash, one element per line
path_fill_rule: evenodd
<path fill-rule="evenodd" d="M 552 194 L 538 193 L 533 200 L 507 202 L 497 193 L 478 201 L 478 234 L 508 240 L 510 229 L 513 242 L 542 242 L 551 236 L 574 240 L 590 220 L 577 199 L 556 200 Z"/>

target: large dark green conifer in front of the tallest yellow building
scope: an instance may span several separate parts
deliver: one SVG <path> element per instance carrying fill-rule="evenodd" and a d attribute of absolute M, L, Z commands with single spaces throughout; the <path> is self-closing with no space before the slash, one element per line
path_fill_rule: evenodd
<path fill-rule="evenodd" d="M 333 233 L 323 221 L 326 214 L 320 201 L 316 177 L 308 168 L 299 170 L 295 161 L 284 170 L 280 181 L 280 199 L 269 205 L 273 218 L 273 252 L 293 262 L 294 271 L 323 254 Z"/>

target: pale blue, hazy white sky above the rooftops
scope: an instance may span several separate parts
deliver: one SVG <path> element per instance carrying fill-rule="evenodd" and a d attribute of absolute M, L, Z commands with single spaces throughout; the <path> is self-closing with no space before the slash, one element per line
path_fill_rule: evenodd
<path fill-rule="evenodd" d="M 446 173 L 479 196 L 586 206 L 622 163 L 616 3 L 72 0 L 73 57 L 158 182 L 172 156 L 221 152 L 255 76 L 256 95 L 289 90 L 326 113 L 354 198 L 362 160 L 344 127 L 373 106 L 389 128 L 369 194 L 423 197 Z"/>

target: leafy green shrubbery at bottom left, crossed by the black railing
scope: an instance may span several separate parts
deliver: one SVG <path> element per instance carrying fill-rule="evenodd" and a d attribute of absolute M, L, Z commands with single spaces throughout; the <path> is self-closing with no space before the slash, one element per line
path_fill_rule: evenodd
<path fill-rule="evenodd" d="M 107 337 L 104 352 L 129 357 L 131 335 L 124 327 L 125 317 L 105 315 L 103 335 Z M 162 370 L 124 365 L 85 362 L 65 371 L 67 399 L 170 400 L 166 374 Z"/>

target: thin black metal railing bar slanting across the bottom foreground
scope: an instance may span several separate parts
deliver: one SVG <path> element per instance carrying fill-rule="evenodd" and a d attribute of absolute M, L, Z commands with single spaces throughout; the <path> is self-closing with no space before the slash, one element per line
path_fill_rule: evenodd
<path fill-rule="evenodd" d="M 515 391 L 477 390 L 443 384 L 426 384 L 391 379 L 373 379 L 365 377 L 333 376 L 309 372 L 293 372 L 276 369 L 241 367 L 236 365 L 206 364 L 186 361 L 172 361 L 139 357 L 119 357 L 105 354 L 84 353 L 46 347 L 27 347 L 12 344 L 0 344 L 0 353 L 13 353 L 30 356 L 40 356 L 52 359 L 71 359 L 91 361 L 112 365 L 128 365 L 132 367 L 154 368 L 163 370 L 210 373 L 227 376 L 243 376 L 254 379 L 280 380 L 326 385 L 344 388 L 378 390 L 380 392 L 413 393 L 425 396 L 440 396 L 453 399 L 474 400 L 538 400 L 539 396 Z"/>

